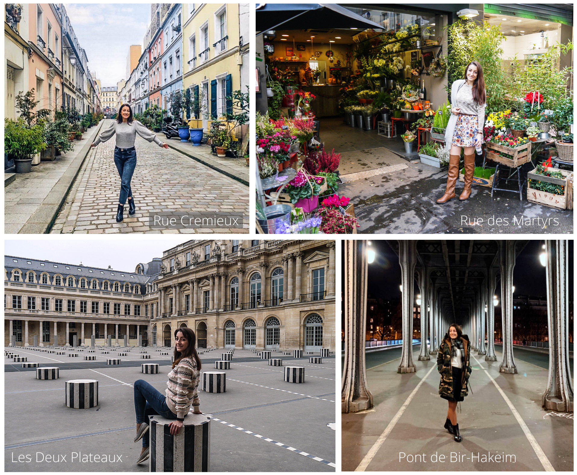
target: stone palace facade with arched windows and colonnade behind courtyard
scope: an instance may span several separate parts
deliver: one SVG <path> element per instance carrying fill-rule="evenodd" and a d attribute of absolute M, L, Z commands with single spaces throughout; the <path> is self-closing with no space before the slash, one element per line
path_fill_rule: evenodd
<path fill-rule="evenodd" d="M 134 272 L 5 256 L 5 345 L 335 350 L 335 241 L 194 240 Z"/>

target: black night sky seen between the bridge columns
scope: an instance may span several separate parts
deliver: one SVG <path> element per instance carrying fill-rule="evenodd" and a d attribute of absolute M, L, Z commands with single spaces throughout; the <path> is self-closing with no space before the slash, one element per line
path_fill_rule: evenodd
<path fill-rule="evenodd" d="M 400 265 L 399 259 L 384 240 L 371 240 L 377 255 L 369 264 L 368 293 L 373 297 L 385 300 L 400 298 Z M 515 263 L 515 295 L 546 296 L 545 267 L 539 263 L 539 253 L 543 241 L 531 240 L 519 254 Z M 573 293 L 573 241 L 569 240 L 569 294 Z M 415 293 L 418 286 L 415 282 Z M 497 295 L 501 286 L 497 284 Z"/>

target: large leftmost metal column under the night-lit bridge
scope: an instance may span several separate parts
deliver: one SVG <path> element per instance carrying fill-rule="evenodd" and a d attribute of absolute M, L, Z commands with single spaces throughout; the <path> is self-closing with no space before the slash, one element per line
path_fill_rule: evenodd
<path fill-rule="evenodd" d="M 343 241 L 344 246 L 344 371 L 341 412 L 359 412 L 373 407 L 366 382 L 366 285 L 368 263 L 366 241 Z"/>

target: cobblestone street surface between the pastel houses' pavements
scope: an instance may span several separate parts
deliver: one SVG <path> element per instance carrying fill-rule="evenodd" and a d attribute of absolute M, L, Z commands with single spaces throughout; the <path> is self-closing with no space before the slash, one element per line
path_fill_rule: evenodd
<path fill-rule="evenodd" d="M 105 130 L 110 121 L 105 121 Z M 160 140 L 164 139 L 159 134 Z M 51 233 L 248 233 L 249 188 L 174 149 L 136 137 L 132 177 L 136 214 L 115 220 L 120 178 L 114 164 L 114 137 L 89 152 Z M 242 213 L 243 228 L 152 230 L 149 212 Z"/>

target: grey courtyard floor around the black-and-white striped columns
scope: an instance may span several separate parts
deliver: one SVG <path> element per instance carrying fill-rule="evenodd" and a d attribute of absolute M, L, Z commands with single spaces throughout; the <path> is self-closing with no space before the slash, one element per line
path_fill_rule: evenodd
<path fill-rule="evenodd" d="M 106 358 L 117 358 L 117 350 L 106 355 L 96 350 L 90 353 L 96 361 L 84 361 L 86 349 L 78 357 L 68 357 L 17 347 L 15 353 L 27 356 L 28 362 L 61 369 L 57 380 L 38 380 L 36 368 L 22 368 L 5 358 L 5 471 L 148 472 L 149 460 L 135 463 L 141 443 L 133 442 L 133 384 L 144 379 L 164 392 L 171 351 L 167 357 L 145 349 L 152 354 L 150 360 L 141 360 L 135 348 L 119 357 L 120 366 L 107 366 Z M 201 355 L 203 371 L 217 371 L 214 361 L 221 359 L 221 353 L 224 350 Z M 226 392 L 211 394 L 199 387 L 201 411 L 218 419 L 211 422 L 211 472 L 335 471 L 335 357 L 311 364 L 308 357 L 280 354 L 271 357 L 282 358 L 284 365 L 305 367 L 305 383 L 286 383 L 283 366 L 268 366 L 268 360 L 252 351 L 237 349 L 230 369 L 223 370 Z M 143 362 L 158 363 L 159 374 L 141 373 Z M 64 387 L 70 379 L 98 380 L 99 406 L 66 407 Z M 66 462 L 37 463 L 37 452 L 67 455 Z M 72 461 L 72 452 L 117 455 L 117 462 L 81 463 L 77 458 Z M 13 462 L 27 454 L 32 462 Z"/>

